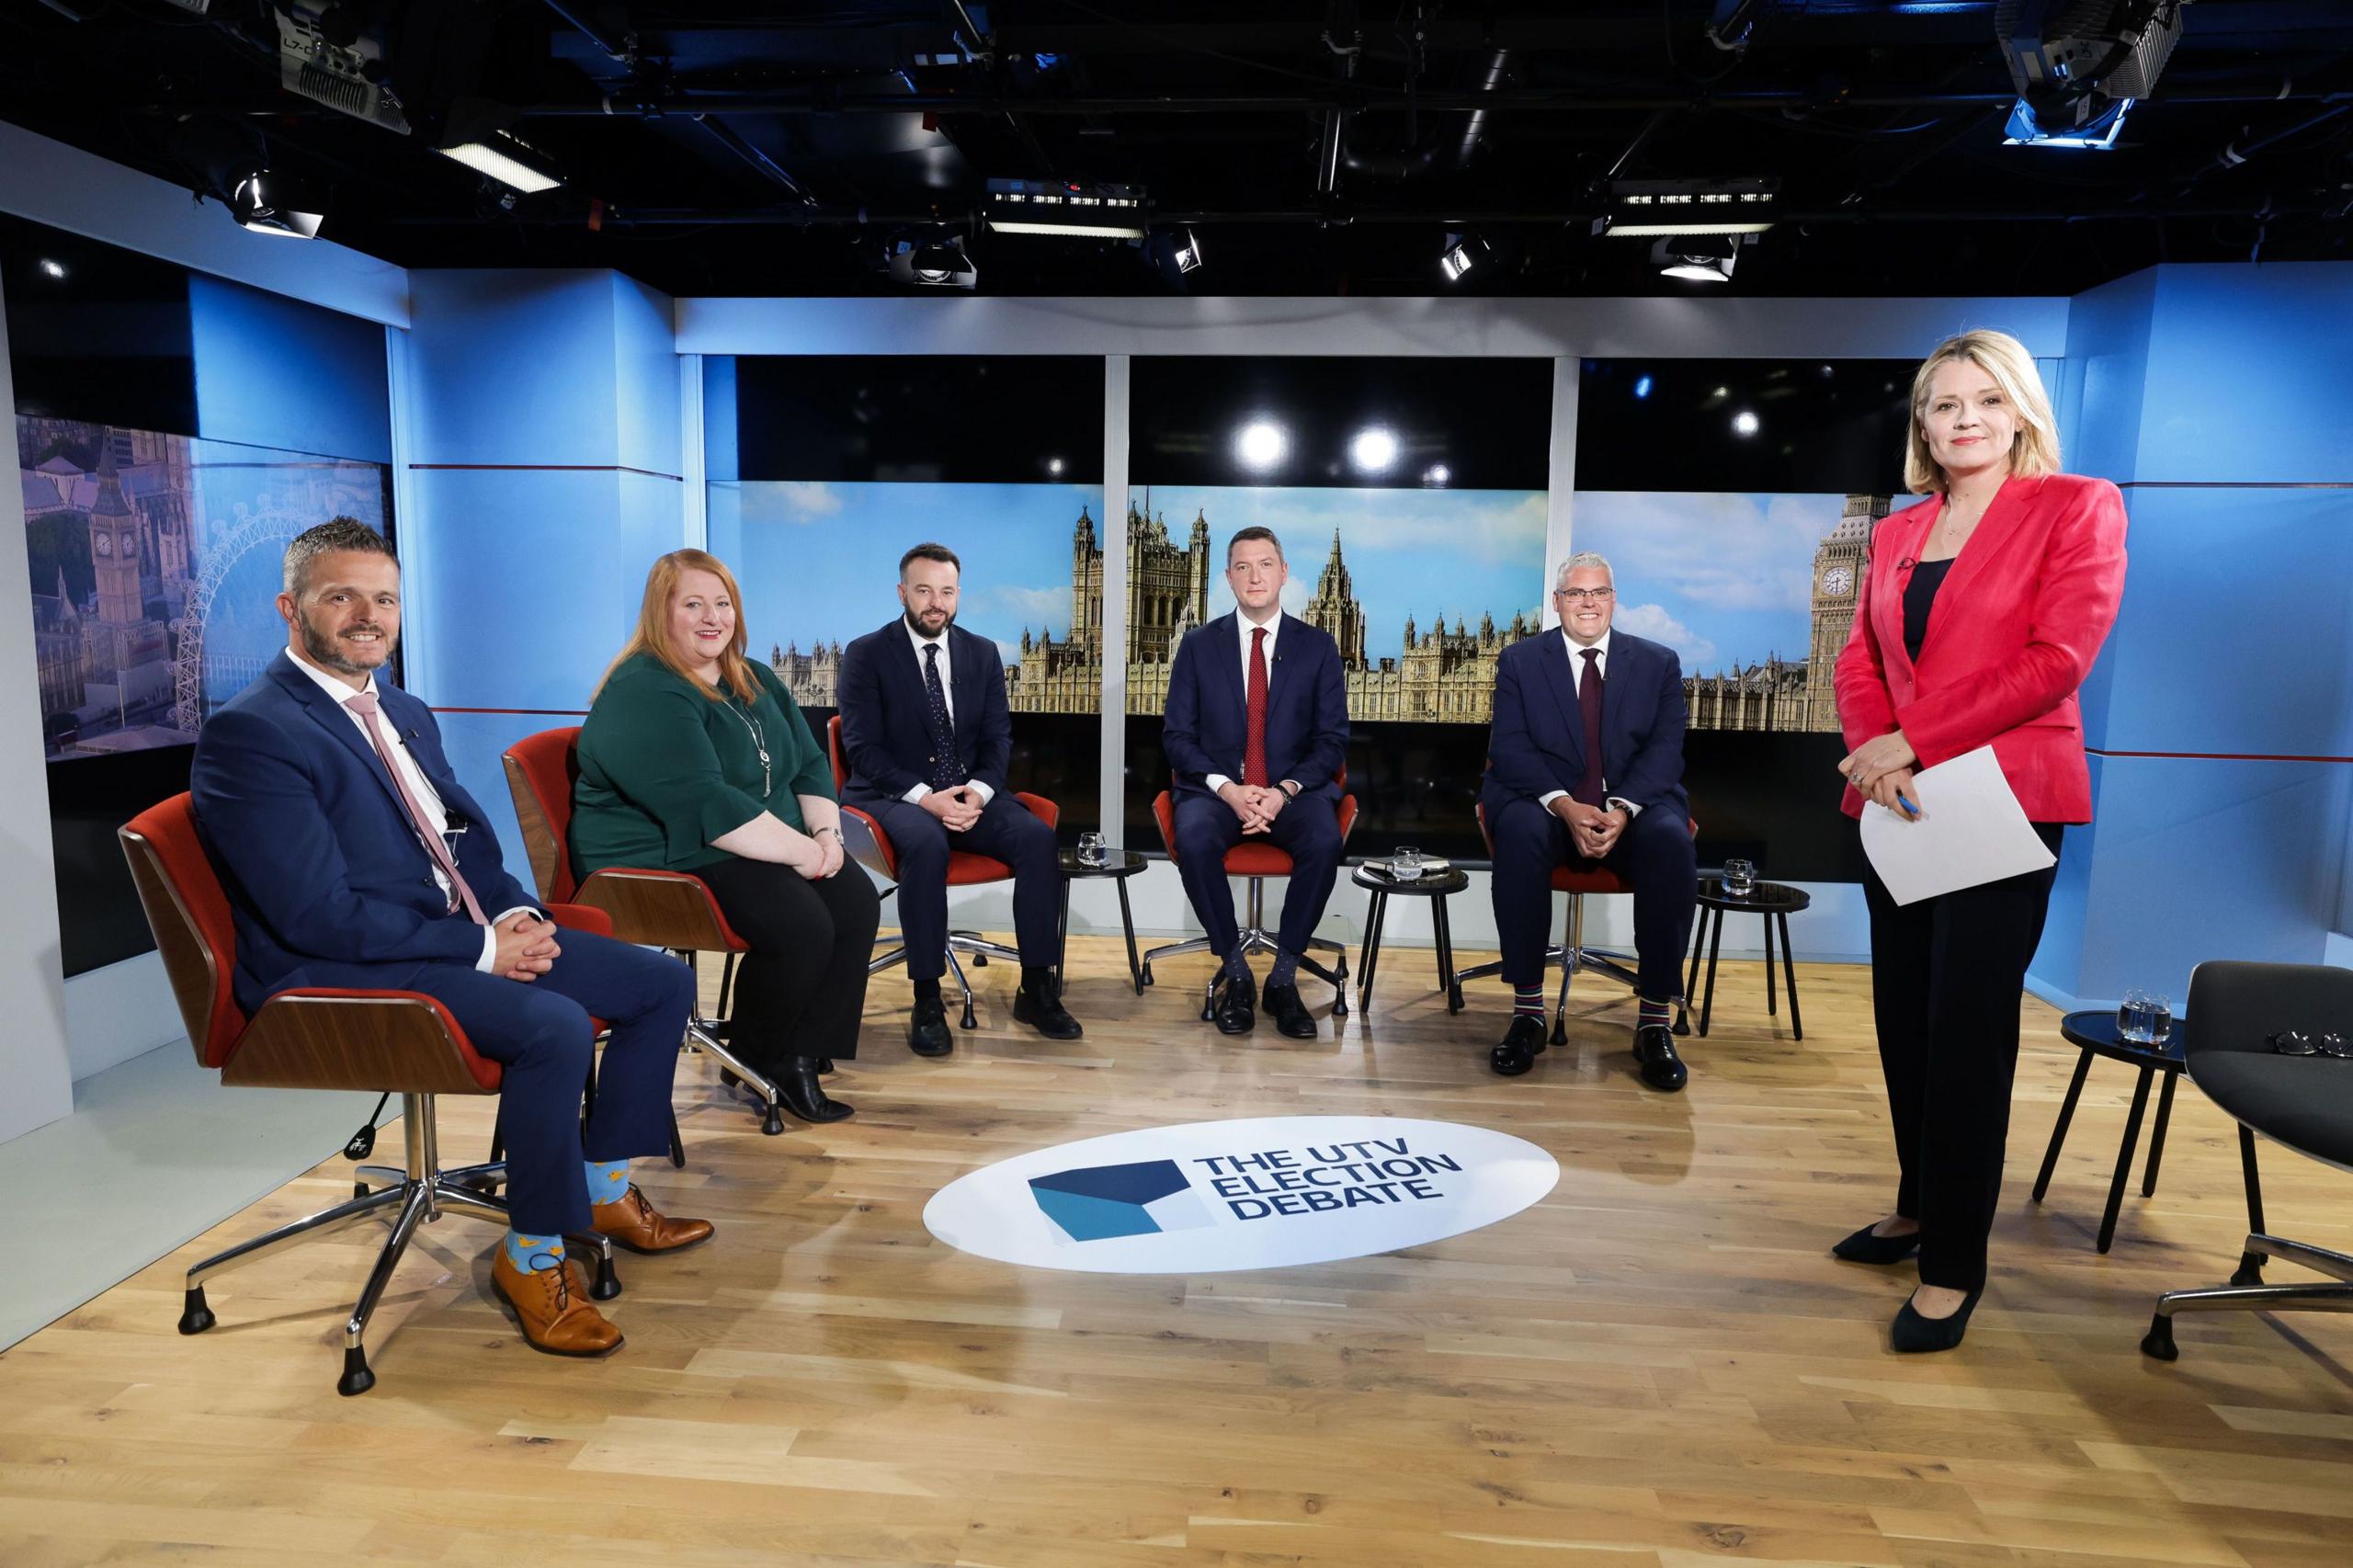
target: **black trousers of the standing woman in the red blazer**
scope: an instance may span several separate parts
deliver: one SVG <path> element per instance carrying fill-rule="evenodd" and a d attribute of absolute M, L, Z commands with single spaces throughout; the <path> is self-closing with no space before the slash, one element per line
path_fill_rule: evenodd
<path fill-rule="evenodd" d="M 2035 833 L 2059 852 L 2059 824 Z M 1897 1212 L 1920 1222 L 1920 1283 L 1977 1290 L 2002 1198 L 2019 991 L 2057 866 L 1897 904 L 1864 869 L 1871 1012 L 1894 1118 Z"/>

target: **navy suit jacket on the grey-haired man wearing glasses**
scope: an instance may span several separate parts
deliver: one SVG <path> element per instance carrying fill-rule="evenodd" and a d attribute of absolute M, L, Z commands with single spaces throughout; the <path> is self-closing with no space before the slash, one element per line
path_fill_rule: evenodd
<path fill-rule="evenodd" d="M 1673 647 L 1609 633 L 1602 676 L 1602 782 L 1642 810 L 1689 815 L 1682 793 L 1682 662 Z M 1494 664 L 1494 730 L 1487 737 L 1487 817 L 1504 800 L 1574 791 L 1586 777 L 1586 720 L 1577 706 L 1567 638 L 1522 638 Z"/>

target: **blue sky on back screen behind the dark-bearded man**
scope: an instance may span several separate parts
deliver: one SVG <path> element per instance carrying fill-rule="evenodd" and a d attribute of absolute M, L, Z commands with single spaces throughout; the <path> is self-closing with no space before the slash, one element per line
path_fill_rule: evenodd
<path fill-rule="evenodd" d="M 713 483 L 711 553 L 744 584 L 751 647 L 847 643 L 899 614 L 899 556 L 936 539 L 965 560 L 958 624 L 1012 659 L 1021 629 L 1071 633 L 1078 509 L 1104 542 L 1101 485 Z"/>

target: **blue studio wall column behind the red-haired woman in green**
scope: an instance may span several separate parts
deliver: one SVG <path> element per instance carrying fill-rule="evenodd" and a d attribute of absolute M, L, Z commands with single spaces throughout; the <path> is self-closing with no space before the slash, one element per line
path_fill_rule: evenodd
<path fill-rule="evenodd" d="M 579 723 L 685 544 L 671 301 L 616 273 L 414 273 L 407 683 L 522 873 L 499 753 Z"/>

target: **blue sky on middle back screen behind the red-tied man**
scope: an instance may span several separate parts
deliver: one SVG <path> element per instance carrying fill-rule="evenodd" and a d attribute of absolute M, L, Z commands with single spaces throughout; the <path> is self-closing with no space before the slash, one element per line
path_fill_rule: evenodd
<path fill-rule="evenodd" d="M 1144 492 L 1134 492 L 1139 504 Z M 1266 525 L 1282 539 L 1292 579 L 1282 607 L 1301 610 L 1339 530 L 1341 556 L 1365 605 L 1365 652 L 1395 659 L 1405 650 L 1405 617 L 1428 631 L 1435 614 L 1447 626 L 1461 617 L 1478 631 L 1480 614 L 1508 626 L 1513 612 L 1534 614 L 1544 603 L 1541 490 L 1257 490 L 1240 485 L 1160 485 L 1153 511 L 1181 537 L 1193 513 L 1209 518 L 1209 539 Z M 1219 556 L 1224 565 L 1224 556 Z M 1224 577 L 1209 584 L 1209 614 L 1233 610 Z"/>

